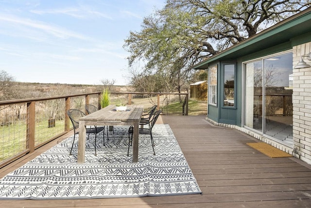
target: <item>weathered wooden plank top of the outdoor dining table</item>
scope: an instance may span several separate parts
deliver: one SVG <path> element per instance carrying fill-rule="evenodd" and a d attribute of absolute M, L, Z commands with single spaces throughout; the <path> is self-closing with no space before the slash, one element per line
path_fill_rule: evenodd
<path fill-rule="evenodd" d="M 122 121 L 139 121 L 143 112 L 142 105 L 127 106 L 126 111 L 116 111 L 115 105 L 109 105 L 94 113 L 81 117 L 81 121 L 97 121 L 97 122 L 122 122 Z"/>

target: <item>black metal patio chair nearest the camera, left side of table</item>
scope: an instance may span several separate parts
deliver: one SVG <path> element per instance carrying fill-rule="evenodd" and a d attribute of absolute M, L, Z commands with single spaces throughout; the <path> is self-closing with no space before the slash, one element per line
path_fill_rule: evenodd
<path fill-rule="evenodd" d="M 71 150 L 70 150 L 70 153 L 69 155 L 71 155 L 71 151 L 72 151 L 72 148 L 73 148 L 73 144 L 74 144 L 74 140 L 75 140 L 75 136 L 76 134 L 79 132 L 79 118 L 85 116 L 86 114 L 83 113 L 82 111 L 80 110 L 77 110 L 77 109 L 70 109 L 67 111 L 67 114 L 71 120 L 71 123 L 72 123 L 72 126 L 73 126 L 73 131 L 74 131 L 74 134 L 73 134 L 73 142 L 72 142 L 72 146 L 71 146 Z M 89 134 L 90 133 L 95 133 L 95 155 L 96 154 L 96 136 L 97 136 L 97 133 L 101 132 L 104 130 L 104 127 L 90 127 L 90 128 L 86 128 L 86 133 L 87 133 L 87 138 L 89 137 Z"/>

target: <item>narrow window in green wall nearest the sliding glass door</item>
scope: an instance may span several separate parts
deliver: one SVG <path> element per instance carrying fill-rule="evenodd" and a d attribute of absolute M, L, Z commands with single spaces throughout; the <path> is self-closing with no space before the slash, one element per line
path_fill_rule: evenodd
<path fill-rule="evenodd" d="M 224 106 L 234 106 L 235 64 L 224 65 Z"/>

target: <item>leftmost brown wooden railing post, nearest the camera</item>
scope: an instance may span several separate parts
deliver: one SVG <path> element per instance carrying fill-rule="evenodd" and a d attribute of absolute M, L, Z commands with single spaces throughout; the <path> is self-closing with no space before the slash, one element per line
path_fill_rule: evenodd
<path fill-rule="evenodd" d="M 27 103 L 27 135 L 26 135 L 26 147 L 30 152 L 35 151 L 35 101 Z"/>

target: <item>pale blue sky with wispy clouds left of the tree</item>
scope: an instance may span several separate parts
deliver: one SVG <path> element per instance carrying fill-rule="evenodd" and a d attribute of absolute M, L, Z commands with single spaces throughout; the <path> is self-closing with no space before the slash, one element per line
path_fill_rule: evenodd
<path fill-rule="evenodd" d="M 20 82 L 127 84 L 130 31 L 165 0 L 0 0 L 0 70 Z"/>

